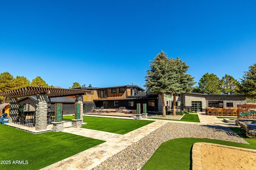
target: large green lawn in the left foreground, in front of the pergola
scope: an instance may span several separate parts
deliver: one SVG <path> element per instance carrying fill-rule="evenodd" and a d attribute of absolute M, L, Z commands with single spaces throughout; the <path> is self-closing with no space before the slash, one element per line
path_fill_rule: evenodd
<path fill-rule="evenodd" d="M 105 142 L 65 132 L 32 134 L 6 125 L 0 125 L 0 132 L 0 160 L 10 160 L 0 164 L 1 170 L 44 168 Z M 24 164 L 13 164 L 16 160 Z"/>

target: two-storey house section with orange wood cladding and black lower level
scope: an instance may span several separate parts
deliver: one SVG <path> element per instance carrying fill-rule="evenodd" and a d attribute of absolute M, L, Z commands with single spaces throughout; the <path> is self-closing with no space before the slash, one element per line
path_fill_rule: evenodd
<path fill-rule="evenodd" d="M 79 87 L 78 89 L 92 90 L 91 94 L 83 96 L 84 111 L 92 107 L 136 109 L 137 103 L 146 103 L 148 111 L 158 111 L 158 95 L 149 94 L 137 85 L 124 85 L 115 87 Z"/>

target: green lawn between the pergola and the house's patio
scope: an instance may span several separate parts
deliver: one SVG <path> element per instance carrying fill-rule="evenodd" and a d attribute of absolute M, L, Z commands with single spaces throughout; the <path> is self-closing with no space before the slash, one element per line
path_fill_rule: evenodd
<path fill-rule="evenodd" d="M 63 119 L 74 119 L 74 116 L 63 116 Z M 117 134 L 126 134 L 128 132 L 131 132 L 132 130 L 148 125 L 154 121 L 139 121 L 129 119 L 84 116 L 84 122 L 87 123 L 87 125 L 82 126 L 82 128 L 112 132 Z"/>

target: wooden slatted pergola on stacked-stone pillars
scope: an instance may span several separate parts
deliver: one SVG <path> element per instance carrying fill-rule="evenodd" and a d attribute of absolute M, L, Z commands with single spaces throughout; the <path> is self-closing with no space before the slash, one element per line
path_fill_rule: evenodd
<path fill-rule="evenodd" d="M 62 89 L 62 88 L 54 88 L 54 87 L 38 87 L 38 86 L 27 86 L 19 89 L 14 89 L 11 91 L 1 92 L 0 96 L 9 97 L 10 98 L 10 109 L 9 109 L 9 123 L 16 123 L 18 116 L 18 97 L 27 97 L 27 96 L 36 96 L 36 114 L 35 114 L 35 128 L 36 130 L 45 130 L 47 127 L 47 112 L 48 106 L 50 105 L 49 99 L 50 97 L 66 97 L 66 96 L 75 96 L 76 103 L 79 105 L 79 118 L 76 119 L 73 124 L 81 124 L 83 115 L 83 97 L 82 95 L 86 95 L 86 93 L 91 93 L 91 90 L 85 89 Z M 77 111 L 77 110 L 76 110 Z M 56 114 L 56 109 L 55 109 Z M 62 114 L 60 112 L 60 114 Z M 57 116 L 57 115 L 55 115 Z M 59 123 L 58 123 L 59 124 Z M 60 124 L 61 125 L 61 124 Z M 63 125 L 62 125 L 63 126 Z M 73 125 L 74 126 L 74 125 Z M 79 125 L 75 125 L 78 126 Z M 57 130 L 56 130 L 57 131 Z"/>

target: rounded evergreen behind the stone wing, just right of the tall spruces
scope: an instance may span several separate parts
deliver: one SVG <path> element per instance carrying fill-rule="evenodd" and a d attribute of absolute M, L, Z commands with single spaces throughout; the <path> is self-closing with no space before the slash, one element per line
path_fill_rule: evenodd
<path fill-rule="evenodd" d="M 199 92 L 218 95 L 222 93 L 221 81 L 217 75 L 205 73 L 198 83 Z"/>

